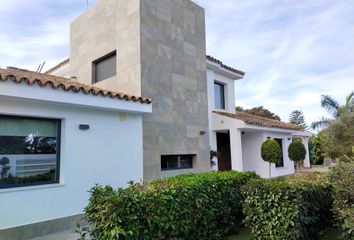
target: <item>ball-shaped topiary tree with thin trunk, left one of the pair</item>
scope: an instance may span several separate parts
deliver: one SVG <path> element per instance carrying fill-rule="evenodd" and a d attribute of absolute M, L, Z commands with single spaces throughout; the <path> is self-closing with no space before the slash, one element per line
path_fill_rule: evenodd
<path fill-rule="evenodd" d="M 277 141 L 266 140 L 261 148 L 262 159 L 269 162 L 269 178 L 272 177 L 272 163 L 277 163 L 281 159 L 281 148 Z"/>

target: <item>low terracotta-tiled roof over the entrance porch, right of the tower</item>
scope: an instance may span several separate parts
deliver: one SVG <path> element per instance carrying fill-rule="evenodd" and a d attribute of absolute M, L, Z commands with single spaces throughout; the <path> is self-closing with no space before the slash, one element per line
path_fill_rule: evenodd
<path fill-rule="evenodd" d="M 285 123 L 265 117 L 259 117 L 256 115 L 252 115 L 249 113 L 244 112 L 236 112 L 236 113 L 229 113 L 229 112 L 221 112 L 221 111 L 213 111 L 216 114 L 238 119 L 244 121 L 250 125 L 256 125 L 260 127 L 268 127 L 268 128 L 282 128 L 282 129 L 290 129 L 290 130 L 300 130 L 300 127 L 295 124 Z"/>

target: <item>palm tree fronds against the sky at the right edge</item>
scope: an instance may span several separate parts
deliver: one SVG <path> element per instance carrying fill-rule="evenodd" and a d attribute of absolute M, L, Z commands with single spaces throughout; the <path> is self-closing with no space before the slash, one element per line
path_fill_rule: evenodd
<path fill-rule="evenodd" d="M 332 118 L 325 118 L 322 117 L 319 121 L 313 122 L 311 127 L 313 129 L 321 129 L 325 128 L 329 125 L 333 118 L 336 119 L 341 115 L 343 112 L 353 112 L 354 111 L 354 91 L 351 92 L 345 98 L 345 104 L 340 105 L 337 100 L 332 98 L 329 95 L 322 95 L 321 96 L 321 107 L 327 110 L 327 112 L 332 116 Z"/>

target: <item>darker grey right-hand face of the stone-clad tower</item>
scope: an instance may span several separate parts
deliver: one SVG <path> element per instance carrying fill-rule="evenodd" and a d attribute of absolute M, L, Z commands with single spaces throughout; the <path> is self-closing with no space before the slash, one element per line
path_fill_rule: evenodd
<path fill-rule="evenodd" d="M 142 0 L 144 179 L 210 170 L 204 9 L 189 0 Z M 197 154 L 193 169 L 161 171 L 161 155 Z"/>

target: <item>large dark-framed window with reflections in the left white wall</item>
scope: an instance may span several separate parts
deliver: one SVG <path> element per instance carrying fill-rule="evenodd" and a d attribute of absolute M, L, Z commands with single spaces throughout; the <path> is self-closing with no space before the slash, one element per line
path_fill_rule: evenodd
<path fill-rule="evenodd" d="M 60 120 L 0 115 L 0 188 L 59 182 Z"/>

